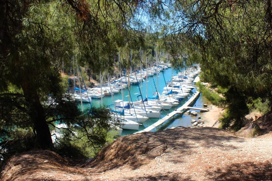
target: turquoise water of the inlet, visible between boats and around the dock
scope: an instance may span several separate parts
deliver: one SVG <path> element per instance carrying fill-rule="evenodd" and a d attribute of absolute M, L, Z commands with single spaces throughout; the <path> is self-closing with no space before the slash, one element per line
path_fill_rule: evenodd
<path fill-rule="evenodd" d="M 173 71 L 173 76 L 177 75 L 178 72 Z M 164 76 L 163 76 L 164 74 Z M 154 75 L 153 77 L 148 77 L 148 79 L 146 79 L 145 81 L 142 82 L 142 88 L 141 89 L 141 93 L 143 95 L 143 98 L 146 97 L 146 95 L 148 97 L 152 97 L 153 93 L 156 92 L 156 88 L 159 91 L 159 93 L 161 94 L 163 91 L 163 88 L 166 86 L 165 85 L 165 81 L 171 81 L 171 74 L 172 74 L 172 70 L 171 68 L 165 69 L 164 72 L 160 72 L 158 74 L 158 79 L 159 79 L 159 86 L 157 86 L 157 75 Z M 165 78 L 165 81 L 164 81 Z M 156 88 L 155 85 L 156 84 Z M 139 83 L 138 85 L 132 85 L 130 86 L 130 92 L 131 92 L 131 97 L 133 101 L 138 100 L 137 96 L 140 95 L 140 91 L 139 91 L 139 87 L 141 87 L 141 84 Z M 146 87 L 148 87 L 148 89 L 146 90 Z M 193 92 L 195 92 L 195 89 L 193 90 Z M 192 93 L 193 94 L 193 93 Z M 124 101 L 128 101 L 128 89 L 124 89 L 123 90 L 123 100 Z M 122 94 L 121 91 L 118 94 L 114 94 L 113 95 L 113 99 L 117 100 L 117 99 L 122 99 Z M 113 99 L 111 96 L 105 96 L 103 97 L 103 106 L 108 106 L 108 105 L 112 105 L 113 104 Z M 182 100 L 179 105 L 177 107 L 171 108 L 170 110 L 162 110 L 161 111 L 161 117 L 163 118 L 165 115 L 167 115 L 168 113 L 172 112 L 174 109 L 182 106 L 189 98 L 184 98 L 184 100 Z M 198 99 L 200 100 L 200 99 Z M 196 104 L 201 104 L 200 102 L 196 102 Z M 202 105 L 202 104 L 201 104 Z M 92 106 L 95 107 L 100 107 L 101 106 L 101 98 L 100 99 L 93 99 L 92 98 Z M 89 103 L 83 103 L 83 109 L 89 108 L 90 105 Z M 184 116 L 182 116 L 184 117 Z M 181 126 L 189 126 L 190 120 L 191 119 L 182 119 L 181 118 L 177 118 L 175 120 L 169 121 L 167 123 L 165 123 L 162 127 L 158 127 L 156 130 L 153 131 L 158 131 L 158 130 L 164 130 L 167 128 L 171 128 L 171 127 L 177 127 L 179 125 Z M 146 120 L 142 125 L 139 126 L 139 130 L 143 130 L 145 128 L 147 128 L 148 126 L 152 125 L 153 123 L 155 123 L 156 121 L 158 121 L 159 119 L 156 118 L 149 118 L 148 120 Z M 138 130 L 123 130 L 122 135 L 128 135 L 128 134 L 132 134 L 137 132 Z"/>

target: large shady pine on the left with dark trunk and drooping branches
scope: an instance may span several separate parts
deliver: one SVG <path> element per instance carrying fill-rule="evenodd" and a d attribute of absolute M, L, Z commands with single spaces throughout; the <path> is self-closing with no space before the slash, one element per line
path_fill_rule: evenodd
<path fill-rule="evenodd" d="M 6 1 L 0 17 L 1 149 L 22 135 L 33 135 L 39 148 L 53 149 L 50 126 L 65 123 L 70 139 L 80 130 L 93 146 L 105 144 L 106 131 L 119 124 L 108 110 L 82 114 L 60 78 L 62 61 L 94 71 L 113 65 L 111 56 L 122 37 L 134 2 Z M 117 31 L 118 30 L 118 31 Z M 52 102 L 46 104 L 48 95 Z M 104 114 L 101 114 L 101 111 Z M 89 120 L 90 122 L 86 122 Z M 63 128 L 64 129 L 64 128 Z M 20 132 L 20 133 L 19 133 Z M 35 144 L 33 142 L 33 144 Z"/>

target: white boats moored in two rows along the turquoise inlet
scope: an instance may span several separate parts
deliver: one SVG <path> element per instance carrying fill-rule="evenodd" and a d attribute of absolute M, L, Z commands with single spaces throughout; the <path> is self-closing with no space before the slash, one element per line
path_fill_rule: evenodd
<path fill-rule="evenodd" d="M 88 102 L 88 97 L 97 99 L 103 96 L 118 94 L 129 86 L 128 79 L 130 84 L 139 84 L 142 81 L 147 80 L 147 77 L 154 76 L 158 74 L 159 71 L 164 71 L 167 68 L 169 68 L 169 66 L 161 66 L 160 68 L 158 66 L 151 69 L 138 70 L 137 72 L 133 72 L 134 75 L 130 74 L 129 76 L 112 79 L 113 81 L 107 85 L 83 90 L 81 97 L 86 97 L 85 100 Z M 139 124 L 144 123 L 144 121 L 149 118 L 160 118 L 161 111 L 169 110 L 172 107 L 179 105 L 179 102 L 183 100 L 184 97 L 190 95 L 190 91 L 194 89 L 194 77 L 199 74 L 199 72 L 200 69 L 197 66 L 190 70 L 187 69 L 186 71 L 178 73 L 177 76 L 173 76 L 171 82 L 167 83 L 167 86 L 163 88 L 161 94 L 156 92 L 155 96 L 145 97 L 139 101 L 114 100 L 113 107 L 110 109 L 118 119 L 123 120 L 122 129 L 138 130 Z M 80 101 L 79 96 L 78 98 L 77 100 Z"/>

